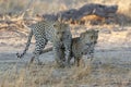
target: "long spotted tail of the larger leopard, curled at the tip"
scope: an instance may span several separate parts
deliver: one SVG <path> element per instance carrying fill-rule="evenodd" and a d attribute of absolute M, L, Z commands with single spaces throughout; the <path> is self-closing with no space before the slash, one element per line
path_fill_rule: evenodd
<path fill-rule="evenodd" d="M 17 58 L 23 58 L 24 57 L 24 54 L 26 53 L 26 51 L 28 50 L 28 47 L 29 47 L 29 45 L 31 45 L 31 40 L 32 40 L 32 37 L 33 37 L 33 29 L 31 29 L 31 33 L 29 33 L 29 35 L 28 35 L 28 39 L 27 39 L 27 44 L 26 44 L 26 47 L 25 47 L 25 49 L 24 49 L 24 51 L 23 51 L 23 53 L 16 53 L 16 57 Z"/>

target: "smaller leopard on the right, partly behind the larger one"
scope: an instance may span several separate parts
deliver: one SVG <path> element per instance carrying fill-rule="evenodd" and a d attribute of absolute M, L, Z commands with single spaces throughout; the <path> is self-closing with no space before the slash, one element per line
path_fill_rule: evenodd
<path fill-rule="evenodd" d="M 72 58 L 74 58 L 74 64 L 80 66 L 80 61 L 83 55 L 86 55 L 88 59 L 93 60 L 95 46 L 97 44 L 99 30 L 88 29 L 80 34 L 80 37 L 72 38 L 71 41 L 71 54 L 68 59 L 68 64 Z M 52 47 L 43 50 L 43 53 L 49 52 L 52 50 Z M 62 55 L 63 57 L 63 55 Z"/>

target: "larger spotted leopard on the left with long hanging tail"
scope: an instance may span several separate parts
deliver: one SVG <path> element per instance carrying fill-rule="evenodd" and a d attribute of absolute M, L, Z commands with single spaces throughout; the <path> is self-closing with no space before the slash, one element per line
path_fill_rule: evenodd
<path fill-rule="evenodd" d="M 29 60 L 29 63 L 33 63 L 34 60 L 40 64 L 39 55 L 41 54 L 43 49 L 48 41 L 52 42 L 55 60 L 59 66 L 63 66 L 62 57 L 60 52 L 64 53 L 64 58 L 69 58 L 71 53 L 71 40 L 72 35 L 70 32 L 70 26 L 66 23 L 59 21 L 40 21 L 37 23 L 27 26 L 31 32 L 26 42 L 26 47 L 22 53 L 16 53 L 17 58 L 23 58 L 28 47 L 33 35 L 35 36 L 35 50 L 33 51 L 33 57 Z M 61 49 L 63 48 L 63 49 Z"/>

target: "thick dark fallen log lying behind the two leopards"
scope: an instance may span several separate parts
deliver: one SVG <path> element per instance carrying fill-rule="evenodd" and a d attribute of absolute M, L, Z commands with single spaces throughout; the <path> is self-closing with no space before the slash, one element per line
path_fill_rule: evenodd
<path fill-rule="evenodd" d="M 59 17 L 64 21 L 81 21 L 82 17 L 87 15 L 97 15 L 99 17 L 114 17 L 118 10 L 118 5 L 103 5 L 103 4 L 85 4 L 80 9 L 71 9 L 68 11 L 61 11 L 57 14 L 44 14 L 45 20 L 58 20 Z"/>

